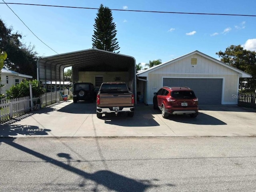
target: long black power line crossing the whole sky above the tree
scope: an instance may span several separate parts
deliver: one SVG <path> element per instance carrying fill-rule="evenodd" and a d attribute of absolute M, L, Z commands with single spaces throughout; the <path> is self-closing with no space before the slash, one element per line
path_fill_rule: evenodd
<path fill-rule="evenodd" d="M 2 3 L 0 3 L 2 4 Z M 60 7 L 60 8 L 77 8 L 77 9 L 96 9 L 89 7 L 74 7 L 74 6 L 59 6 L 59 5 L 43 5 L 43 4 L 27 4 L 27 3 L 5 3 L 16 4 L 16 5 L 32 5 L 32 6 L 47 6 L 47 7 Z M 169 14 L 195 14 L 195 15 L 220 15 L 220 16 L 248 16 L 256 17 L 256 15 L 246 15 L 246 14 L 221 14 L 221 13 L 193 13 L 193 12 L 168 12 L 168 11 L 145 11 L 145 10 L 123 10 L 123 9 L 110 9 L 112 11 L 128 11 L 128 12 L 149 12 L 149 13 L 169 13 Z"/>

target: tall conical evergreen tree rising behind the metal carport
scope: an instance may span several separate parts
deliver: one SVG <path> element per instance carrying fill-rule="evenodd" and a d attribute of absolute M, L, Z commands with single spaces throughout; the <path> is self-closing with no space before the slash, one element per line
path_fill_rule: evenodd
<path fill-rule="evenodd" d="M 112 12 L 108 7 L 100 5 L 93 26 L 92 48 L 110 52 L 120 49 L 118 42 L 116 42 L 116 24 L 113 22 Z"/>

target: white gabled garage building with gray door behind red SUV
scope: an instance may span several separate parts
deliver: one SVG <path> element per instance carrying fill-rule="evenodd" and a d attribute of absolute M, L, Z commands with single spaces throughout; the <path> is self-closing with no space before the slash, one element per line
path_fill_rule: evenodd
<path fill-rule="evenodd" d="M 197 50 L 136 75 L 145 104 L 153 104 L 154 92 L 162 86 L 188 86 L 199 104 L 237 104 L 239 78 L 251 77 Z"/>

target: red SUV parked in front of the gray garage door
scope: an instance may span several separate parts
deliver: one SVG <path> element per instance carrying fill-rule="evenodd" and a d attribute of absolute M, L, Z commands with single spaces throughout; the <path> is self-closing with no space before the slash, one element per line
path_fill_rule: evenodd
<path fill-rule="evenodd" d="M 162 110 L 162 117 L 167 118 L 169 114 L 189 114 L 190 117 L 198 115 L 198 98 L 194 91 L 188 87 L 164 86 L 154 93 L 154 109 Z"/>

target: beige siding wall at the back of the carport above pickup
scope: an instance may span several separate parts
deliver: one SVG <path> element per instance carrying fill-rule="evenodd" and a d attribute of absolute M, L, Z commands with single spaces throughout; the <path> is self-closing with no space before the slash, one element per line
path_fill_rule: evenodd
<path fill-rule="evenodd" d="M 95 86 L 95 77 L 102 77 L 103 82 L 125 82 L 128 85 L 129 72 L 94 72 L 80 71 L 78 72 L 78 82 L 89 82 Z M 120 80 L 116 80 L 116 78 Z"/>

